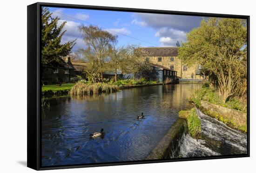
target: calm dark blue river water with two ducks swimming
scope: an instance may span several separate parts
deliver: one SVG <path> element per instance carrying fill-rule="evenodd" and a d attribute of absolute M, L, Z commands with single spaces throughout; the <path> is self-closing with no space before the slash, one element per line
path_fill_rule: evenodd
<path fill-rule="evenodd" d="M 144 160 L 201 84 L 170 84 L 109 95 L 47 100 L 42 111 L 42 166 Z M 145 118 L 136 116 L 144 113 Z M 89 138 L 90 133 L 104 136 Z"/>

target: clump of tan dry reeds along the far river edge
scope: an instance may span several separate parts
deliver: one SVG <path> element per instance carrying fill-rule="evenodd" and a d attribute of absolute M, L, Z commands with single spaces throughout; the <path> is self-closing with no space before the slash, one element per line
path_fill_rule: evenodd
<path fill-rule="evenodd" d="M 119 90 L 117 85 L 109 83 L 83 83 L 77 82 L 69 91 L 71 96 L 99 95 L 101 93 L 112 93 Z"/>

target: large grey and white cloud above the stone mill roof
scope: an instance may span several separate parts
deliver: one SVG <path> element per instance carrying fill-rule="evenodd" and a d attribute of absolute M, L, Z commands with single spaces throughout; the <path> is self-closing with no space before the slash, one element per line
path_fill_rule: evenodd
<path fill-rule="evenodd" d="M 161 46 L 175 46 L 176 42 L 185 42 L 186 33 L 198 27 L 200 16 L 170 14 L 134 13 L 132 24 L 153 28 L 155 37 L 159 37 Z"/>

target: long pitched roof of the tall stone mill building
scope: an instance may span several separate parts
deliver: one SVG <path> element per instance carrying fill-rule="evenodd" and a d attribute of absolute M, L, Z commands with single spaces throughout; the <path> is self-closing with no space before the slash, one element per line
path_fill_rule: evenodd
<path fill-rule="evenodd" d="M 148 51 L 149 57 L 177 57 L 177 47 L 143 47 L 145 51 Z"/>

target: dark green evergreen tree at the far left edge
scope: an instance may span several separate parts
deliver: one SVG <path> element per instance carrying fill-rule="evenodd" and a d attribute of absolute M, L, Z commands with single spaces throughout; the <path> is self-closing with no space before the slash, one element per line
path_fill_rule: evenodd
<path fill-rule="evenodd" d="M 41 58 L 44 65 L 54 65 L 59 62 L 61 57 L 67 56 L 75 45 L 75 40 L 61 44 L 61 38 L 66 32 L 62 30 L 67 22 L 58 26 L 59 20 L 59 17 L 52 18 L 48 8 L 42 8 Z"/>

